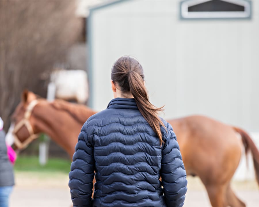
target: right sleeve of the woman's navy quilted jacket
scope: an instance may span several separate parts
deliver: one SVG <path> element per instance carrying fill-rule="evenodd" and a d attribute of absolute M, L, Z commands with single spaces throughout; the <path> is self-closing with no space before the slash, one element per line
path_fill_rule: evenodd
<path fill-rule="evenodd" d="M 166 205 L 183 206 L 187 191 L 186 171 L 176 135 L 169 123 L 164 141 L 160 173 Z"/>

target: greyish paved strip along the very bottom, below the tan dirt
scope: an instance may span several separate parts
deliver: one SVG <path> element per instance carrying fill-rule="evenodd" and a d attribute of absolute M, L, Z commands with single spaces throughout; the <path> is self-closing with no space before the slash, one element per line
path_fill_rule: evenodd
<path fill-rule="evenodd" d="M 238 196 L 250 207 L 259 206 L 258 191 L 238 191 Z M 63 188 L 15 188 L 10 200 L 10 207 L 71 207 L 69 189 Z M 205 191 L 188 191 L 185 207 L 210 206 Z"/>

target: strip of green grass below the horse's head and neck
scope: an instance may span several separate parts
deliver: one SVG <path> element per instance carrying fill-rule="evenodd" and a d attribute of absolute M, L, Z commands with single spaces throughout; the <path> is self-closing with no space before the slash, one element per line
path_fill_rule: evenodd
<path fill-rule="evenodd" d="M 14 165 L 16 172 L 29 171 L 29 172 L 44 172 L 44 173 L 66 173 L 70 171 L 70 160 L 61 158 L 49 158 L 47 164 L 41 166 L 39 164 L 39 157 L 37 156 L 20 156 L 17 158 Z"/>

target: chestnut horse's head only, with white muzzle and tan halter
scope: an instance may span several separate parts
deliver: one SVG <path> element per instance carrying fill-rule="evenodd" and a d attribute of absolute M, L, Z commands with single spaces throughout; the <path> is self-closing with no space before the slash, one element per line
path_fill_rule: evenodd
<path fill-rule="evenodd" d="M 12 115 L 12 124 L 7 133 L 7 142 L 13 143 L 14 149 L 22 150 L 38 137 L 37 130 L 35 129 L 35 120 L 31 116 L 37 104 L 37 96 L 31 91 L 24 90 L 22 100 Z M 12 137 L 13 140 L 10 140 Z"/>

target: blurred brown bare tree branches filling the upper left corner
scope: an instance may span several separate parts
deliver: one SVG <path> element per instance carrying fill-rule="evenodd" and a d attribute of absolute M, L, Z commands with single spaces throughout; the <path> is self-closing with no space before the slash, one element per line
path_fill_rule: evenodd
<path fill-rule="evenodd" d="M 40 74 L 66 62 L 82 34 L 76 1 L 0 1 L 0 116 L 10 115 L 24 88 L 46 95 Z"/>

